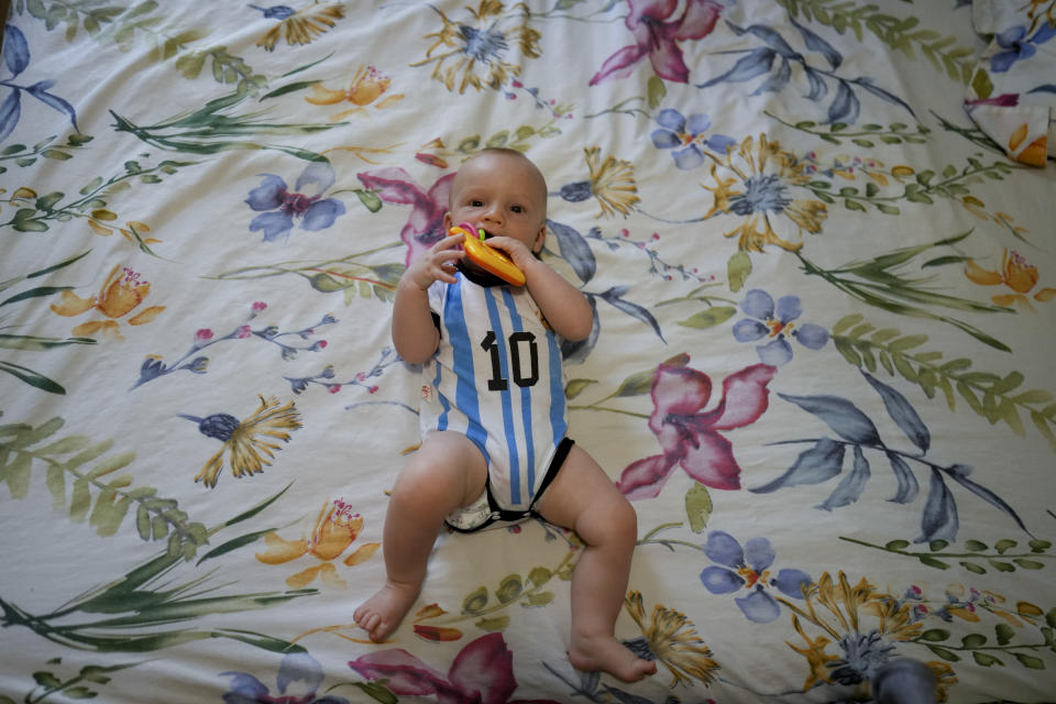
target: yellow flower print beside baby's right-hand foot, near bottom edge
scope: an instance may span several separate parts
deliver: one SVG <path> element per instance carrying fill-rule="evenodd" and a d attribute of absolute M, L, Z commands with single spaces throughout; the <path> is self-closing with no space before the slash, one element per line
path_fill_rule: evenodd
<path fill-rule="evenodd" d="M 712 659 L 711 649 L 696 635 L 693 622 L 680 612 L 658 604 L 652 607 L 652 616 L 647 623 L 641 593 L 637 591 L 627 594 L 624 607 L 641 629 L 648 654 L 674 675 L 669 686 L 692 684 L 693 680 L 708 684 L 715 679 L 719 666 Z M 635 649 L 637 644 L 631 641 L 629 645 Z"/>

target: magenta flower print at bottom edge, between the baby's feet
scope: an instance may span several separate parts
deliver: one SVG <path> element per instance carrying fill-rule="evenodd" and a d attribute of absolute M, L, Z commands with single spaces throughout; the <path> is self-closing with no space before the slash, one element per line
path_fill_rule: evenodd
<path fill-rule="evenodd" d="M 526 700 L 510 698 L 517 690 L 514 653 L 501 632 L 487 634 L 468 644 L 454 656 L 447 675 L 403 648 L 370 652 L 349 662 L 349 667 L 367 680 L 384 681 L 396 695 L 435 694 L 440 702 L 529 704 Z M 559 704 L 553 700 L 530 702 Z"/>

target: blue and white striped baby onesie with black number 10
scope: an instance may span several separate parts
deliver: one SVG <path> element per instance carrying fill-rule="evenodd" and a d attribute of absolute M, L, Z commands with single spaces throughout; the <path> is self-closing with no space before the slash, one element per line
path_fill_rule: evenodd
<path fill-rule="evenodd" d="M 429 288 L 440 345 L 422 371 L 419 419 L 422 440 L 454 430 L 484 454 L 485 495 L 448 517 L 474 530 L 529 515 L 571 441 L 561 350 L 527 288 L 455 277 Z"/>

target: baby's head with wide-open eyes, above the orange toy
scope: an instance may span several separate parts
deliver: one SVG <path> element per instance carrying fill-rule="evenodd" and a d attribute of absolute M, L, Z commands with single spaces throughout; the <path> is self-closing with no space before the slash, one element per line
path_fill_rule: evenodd
<path fill-rule="evenodd" d="M 520 241 L 532 252 L 546 237 L 547 186 L 530 162 L 485 153 L 463 164 L 451 185 L 447 227 L 469 222 L 488 235 Z"/>

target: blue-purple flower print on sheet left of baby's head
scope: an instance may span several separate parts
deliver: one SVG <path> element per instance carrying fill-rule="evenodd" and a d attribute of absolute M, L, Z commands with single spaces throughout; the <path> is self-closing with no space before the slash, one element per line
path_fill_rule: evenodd
<path fill-rule="evenodd" d="M 275 174 L 262 174 L 264 180 L 250 191 L 245 202 L 261 215 L 253 218 L 250 231 L 264 231 L 265 242 L 286 241 L 294 221 L 301 230 L 324 230 L 344 215 L 344 204 L 337 198 L 323 198 L 322 194 L 333 185 L 333 168 L 326 162 L 312 162 L 297 177 L 294 190 Z M 310 188 L 309 194 L 301 193 Z"/>

